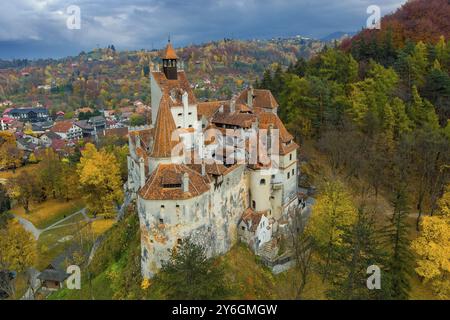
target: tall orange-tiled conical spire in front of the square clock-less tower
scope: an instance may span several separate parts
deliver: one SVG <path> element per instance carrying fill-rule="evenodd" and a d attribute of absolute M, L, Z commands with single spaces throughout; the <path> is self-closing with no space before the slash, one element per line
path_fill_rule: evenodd
<path fill-rule="evenodd" d="M 155 123 L 155 140 L 151 157 L 170 158 L 172 149 L 178 141 L 172 141 L 172 133 L 176 130 L 175 121 L 173 121 L 170 106 L 172 101 L 167 93 L 164 93 L 159 103 L 158 116 Z"/>

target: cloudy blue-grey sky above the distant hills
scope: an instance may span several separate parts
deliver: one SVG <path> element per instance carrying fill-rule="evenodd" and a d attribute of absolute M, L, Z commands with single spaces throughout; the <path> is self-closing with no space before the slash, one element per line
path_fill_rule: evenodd
<path fill-rule="evenodd" d="M 227 38 L 358 31 L 369 5 L 381 14 L 405 0 L 2 0 L 0 58 L 76 55 L 114 44 L 119 50 L 161 48 Z M 67 28 L 71 5 L 80 29 Z"/>

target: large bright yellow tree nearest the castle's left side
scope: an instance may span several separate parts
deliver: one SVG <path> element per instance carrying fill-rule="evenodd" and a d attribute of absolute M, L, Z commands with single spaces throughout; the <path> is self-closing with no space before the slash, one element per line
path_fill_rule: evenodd
<path fill-rule="evenodd" d="M 77 167 L 86 206 L 93 214 L 112 216 L 122 201 L 120 169 L 113 154 L 86 144 Z"/>

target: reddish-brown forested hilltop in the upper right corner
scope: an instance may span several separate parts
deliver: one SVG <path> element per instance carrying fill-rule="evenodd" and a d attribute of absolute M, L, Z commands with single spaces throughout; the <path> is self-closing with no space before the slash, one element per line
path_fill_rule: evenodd
<path fill-rule="evenodd" d="M 381 19 L 380 30 L 363 30 L 342 43 L 349 50 L 360 45 L 382 43 L 391 38 L 396 49 L 408 41 L 435 44 L 450 37 L 450 2 L 448 0 L 410 0 L 392 14 Z"/>

